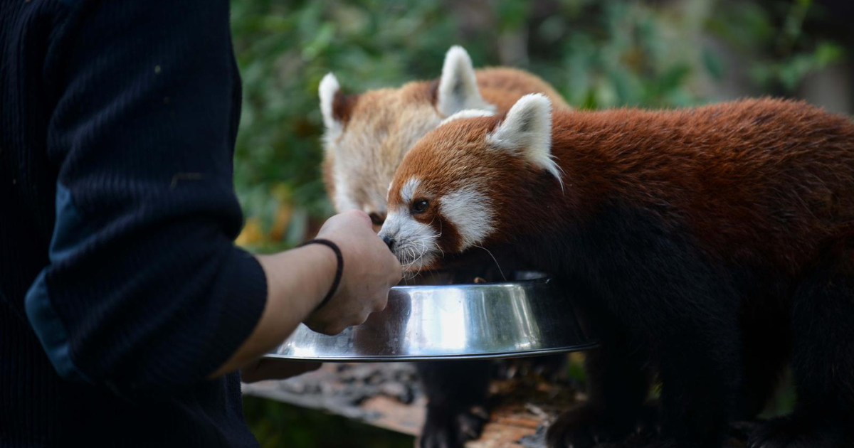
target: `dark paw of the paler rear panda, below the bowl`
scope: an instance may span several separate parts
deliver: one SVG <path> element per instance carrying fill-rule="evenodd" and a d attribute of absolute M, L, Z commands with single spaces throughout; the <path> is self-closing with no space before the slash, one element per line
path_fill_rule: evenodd
<path fill-rule="evenodd" d="M 488 419 L 488 411 L 480 406 L 457 409 L 428 405 L 418 447 L 463 448 L 465 442 L 480 437 Z"/>

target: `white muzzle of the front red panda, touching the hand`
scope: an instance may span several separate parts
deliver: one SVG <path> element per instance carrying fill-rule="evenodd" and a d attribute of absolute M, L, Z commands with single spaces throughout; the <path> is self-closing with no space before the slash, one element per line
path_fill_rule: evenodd
<path fill-rule="evenodd" d="M 436 230 L 412 218 L 406 207 L 389 212 L 379 236 L 388 236 L 395 241 L 395 257 L 407 270 L 418 271 L 433 263 L 441 253 L 436 243 L 439 238 Z"/>

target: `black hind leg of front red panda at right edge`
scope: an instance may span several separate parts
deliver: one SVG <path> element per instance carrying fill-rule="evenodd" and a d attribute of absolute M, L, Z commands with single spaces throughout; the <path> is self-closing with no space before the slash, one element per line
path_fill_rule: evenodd
<path fill-rule="evenodd" d="M 793 296 L 791 416 L 757 428 L 764 448 L 854 446 L 854 240 L 828 249 Z"/>

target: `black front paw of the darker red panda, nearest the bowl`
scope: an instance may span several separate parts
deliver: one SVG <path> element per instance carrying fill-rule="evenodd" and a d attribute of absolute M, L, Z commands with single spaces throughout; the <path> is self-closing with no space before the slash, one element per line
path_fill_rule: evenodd
<path fill-rule="evenodd" d="M 611 443 L 623 441 L 634 429 L 632 424 L 613 422 L 584 404 L 564 412 L 552 423 L 546 433 L 546 445 L 548 448 L 610 447 Z"/>

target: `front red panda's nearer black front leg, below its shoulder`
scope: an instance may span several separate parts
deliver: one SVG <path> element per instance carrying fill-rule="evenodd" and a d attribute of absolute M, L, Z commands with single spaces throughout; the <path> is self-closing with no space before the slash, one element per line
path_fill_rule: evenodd
<path fill-rule="evenodd" d="M 634 236 L 614 239 L 619 257 L 607 259 L 600 275 L 608 275 L 602 288 L 608 309 L 658 368 L 660 433 L 640 444 L 719 448 L 742 372 L 736 282 L 690 241 Z"/>

